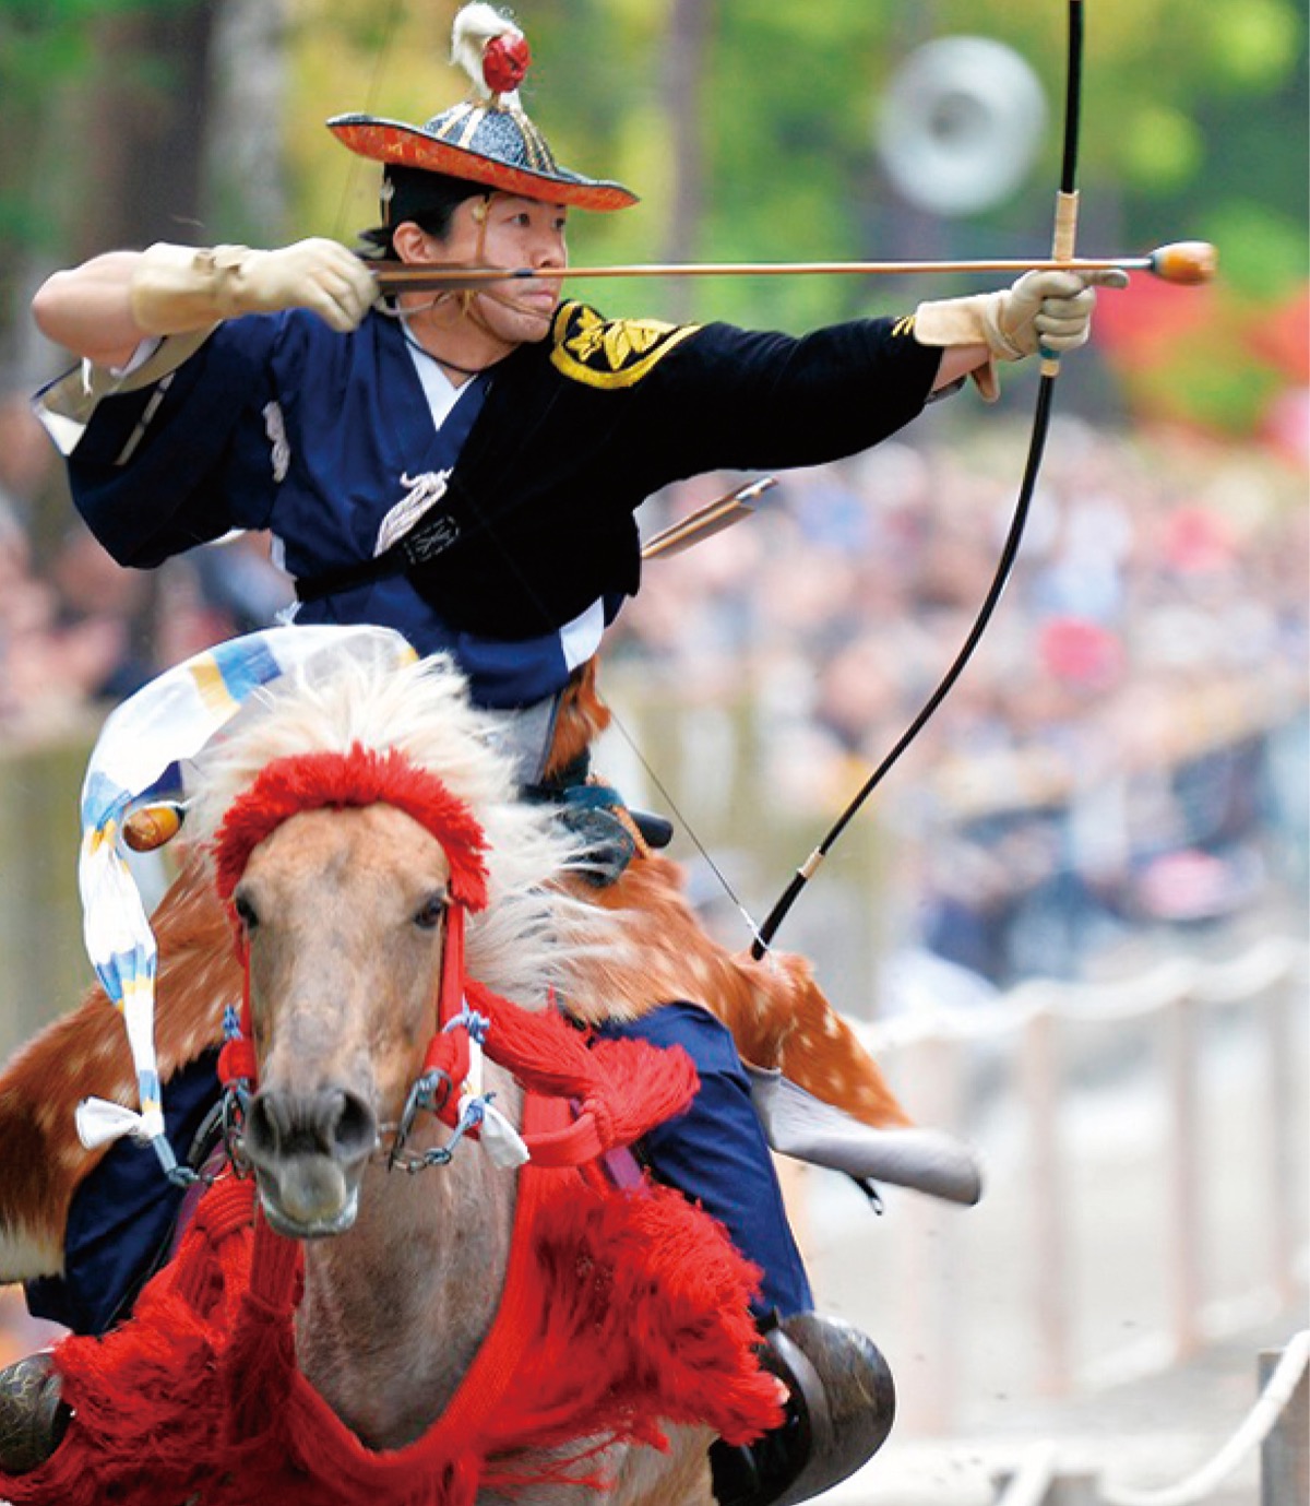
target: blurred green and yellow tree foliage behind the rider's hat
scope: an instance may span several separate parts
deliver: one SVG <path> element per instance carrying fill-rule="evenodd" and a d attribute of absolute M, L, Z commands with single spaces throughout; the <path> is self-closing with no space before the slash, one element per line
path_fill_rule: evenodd
<path fill-rule="evenodd" d="M 74 242 L 57 158 L 78 92 L 96 68 L 125 77 L 140 57 L 98 57 L 114 18 L 223 0 L 0 0 L 0 238 L 57 253 Z M 706 185 L 702 214 L 670 247 L 681 166 L 672 149 L 666 57 L 673 0 L 518 0 L 535 66 L 529 110 L 560 158 L 616 176 L 644 203 L 578 215 L 577 261 L 849 259 L 1042 255 L 1059 166 L 1065 6 L 1057 0 L 702 0 L 705 44 L 693 101 Z M 294 229 L 349 238 L 376 218 L 376 170 L 322 122 L 352 108 L 423 120 L 458 99 L 446 62 L 455 0 L 289 0 L 292 95 L 286 154 Z M 1277 318 L 1307 277 L 1307 0 L 1095 0 L 1087 12 L 1081 247 L 1137 252 L 1162 241 L 1220 245 L 1224 283 L 1206 414 L 1250 423 L 1263 357 L 1245 330 Z M 110 33 L 113 35 L 111 29 Z M 949 35 L 1013 47 L 1042 80 L 1050 122 L 1036 166 L 997 208 L 934 218 L 899 199 L 875 151 L 879 102 L 920 44 Z M 149 60 L 160 66 L 160 59 Z M 684 90 L 685 93 L 685 90 Z M 111 128 L 111 122 L 110 122 Z M 143 164 L 143 170 L 148 166 Z M 59 196 L 63 194 L 63 208 Z M 268 235 L 285 233 L 271 226 Z M 215 227 L 221 232 L 221 227 Z M 733 318 L 803 328 L 974 285 L 772 279 L 685 286 L 605 285 L 614 312 Z M 1188 360 L 1199 358 L 1190 349 Z M 1158 357 L 1171 378 L 1168 357 Z M 1138 378 L 1141 372 L 1135 373 Z M 1257 380 L 1259 378 L 1259 380 Z M 1147 384 L 1149 386 L 1149 384 Z M 1147 402 L 1141 384 L 1134 401 Z M 1149 402 L 1147 402 L 1149 405 Z"/>

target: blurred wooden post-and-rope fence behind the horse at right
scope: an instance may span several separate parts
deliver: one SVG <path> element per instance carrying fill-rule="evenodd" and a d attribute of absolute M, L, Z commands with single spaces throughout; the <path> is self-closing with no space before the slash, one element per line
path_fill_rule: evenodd
<path fill-rule="evenodd" d="M 804 1182 L 821 1304 L 893 1369 L 912 1357 L 905 1429 L 986 1426 L 998 1390 L 1010 1405 L 1098 1392 L 1293 1307 L 1305 1000 L 1305 944 L 1269 937 L 1224 962 L 860 1027 L 917 1117 L 989 1163 L 976 1209 L 888 1190 L 878 1226 L 822 1173 Z"/>

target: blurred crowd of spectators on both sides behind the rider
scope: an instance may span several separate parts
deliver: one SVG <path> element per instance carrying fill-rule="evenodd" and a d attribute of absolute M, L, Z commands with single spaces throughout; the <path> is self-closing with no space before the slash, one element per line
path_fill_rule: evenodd
<path fill-rule="evenodd" d="M 964 642 L 1024 441 L 992 422 L 786 474 L 754 520 L 647 566 L 607 661 L 657 697 L 747 703 L 769 800 L 833 815 Z M 739 479 L 653 498 L 643 532 Z M 1307 557 L 1286 459 L 1057 422 L 991 630 L 879 794 L 903 931 L 1006 985 L 1116 926 L 1304 890 Z M 26 398 L 0 404 L 0 738 L 102 712 L 289 599 L 256 535 L 116 566 Z"/>

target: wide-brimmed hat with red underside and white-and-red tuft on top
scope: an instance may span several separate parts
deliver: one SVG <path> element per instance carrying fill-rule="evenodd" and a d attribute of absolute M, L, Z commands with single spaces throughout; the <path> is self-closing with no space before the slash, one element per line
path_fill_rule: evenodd
<path fill-rule="evenodd" d="M 328 130 L 375 163 L 417 167 L 503 193 L 578 209 L 626 209 L 637 194 L 622 184 L 560 167 L 518 99 L 532 53 L 522 32 L 489 5 L 455 17 L 452 60 L 473 80 L 473 98 L 408 125 L 375 114 L 337 114 Z"/>

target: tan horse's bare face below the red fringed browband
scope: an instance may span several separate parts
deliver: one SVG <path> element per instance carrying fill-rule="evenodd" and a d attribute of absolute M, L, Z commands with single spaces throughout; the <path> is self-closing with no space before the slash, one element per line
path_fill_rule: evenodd
<path fill-rule="evenodd" d="M 244 1152 L 282 1233 L 355 1221 L 435 1030 L 449 886 L 438 840 L 384 803 L 291 816 L 250 854 L 232 892 L 259 1063 Z"/>

